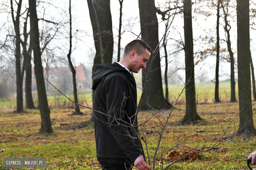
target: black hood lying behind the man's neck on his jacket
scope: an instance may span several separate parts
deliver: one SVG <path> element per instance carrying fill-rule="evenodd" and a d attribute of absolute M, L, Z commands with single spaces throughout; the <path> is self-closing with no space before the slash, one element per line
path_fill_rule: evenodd
<path fill-rule="evenodd" d="M 123 68 L 120 64 L 118 64 L 116 62 L 114 62 L 113 64 L 112 63 L 95 64 L 94 69 L 93 69 L 93 75 L 92 75 L 92 79 L 93 79 L 92 89 L 96 90 L 97 85 L 99 84 L 100 80 L 104 76 L 106 76 L 110 73 L 118 72 L 118 71 L 127 72 L 127 70 L 125 68 Z"/>

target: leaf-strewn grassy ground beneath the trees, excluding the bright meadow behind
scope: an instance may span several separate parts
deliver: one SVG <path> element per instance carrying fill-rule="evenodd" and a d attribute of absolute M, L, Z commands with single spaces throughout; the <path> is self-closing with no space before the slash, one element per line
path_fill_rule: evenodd
<path fill-rule="evenodd" d="M 252 102 L 254 125 L 256 124 L 256 102 Z M 188 125 L 179 125 L 185 114 L 185 105 L 177 105 L 181 110 L 173 111 L 160 149 L 157 154 L 157 168 L 160 170 L 161 154 L 163 164 L 175 161 L 187 151 L 203 146 L 212 146 L 223 134 L 223 130 L 239 112 L 238 103 L 199 104 L 198 114 L 201 121 Z M 53 133 L 38 133 L 41 126 L 39 110 L 26 110 L 15 113 L 13 109 L 0 110 L 0 169 L 2 158 L 47 158 L 47 168 L 12 168 L 12 169 L 100 169 L 96 161 L 94 125 L 86 123 L 91 112 L 81 109 L 83 115 L 74 114 L 70 109 L 52 109 L 51 120 Z M 167 111 L 168 113 L 168 111 Z M 139 112 L 138 121 L 142 123 L 151 116 L 149 112 Z M 162 119 L 162 118 L 161 118 Z M 239 128 L 239 116 L 227 129 L 224 141 Z M 150 119 L 145 126 L 159 130 L 156 118 Z M 149 131 L 151 134 L 152 131 Z M 141 134 L 141 136 L 143 136 Z M 152 133 L 148 138 L 148 152 L 152 161 L 159 135 Z M 106 139 L 107 140 L 107 139 Z M 170 166 L 169 169 L 182 170 L 242 170 L 248 169 L 246 158 L 256 148 L 256 136 L 246 139 L 243 134 L 201 154 L 193 154 Z M 177 147 L 174 147 L 177 146 Z M 171 149 L 172 148 L 172 149 Z M 145 149 L 145 146 L 144 146 Z"/>

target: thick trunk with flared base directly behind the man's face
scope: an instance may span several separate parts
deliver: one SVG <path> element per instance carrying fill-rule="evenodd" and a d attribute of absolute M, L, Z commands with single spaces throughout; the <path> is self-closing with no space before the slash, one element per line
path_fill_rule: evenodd
<path fill-rule="evenodd" d="M 140 29 L 141 38 L 154 50 L 159 43 L 158 39 L 158 20 L 156 15 L 155 0 L 139 0 L 139 17 L 140 17 Z M 154 59 L 153 59 L 153 57 Z M 140 105 L 141 110 L 148 110 L 151 107 L 158 109 L 159 107 L 164 109 L 171 108 L 171 104 L 167 102 L 163 96 L 162 77 L 160 69 L 160 54 L 151 54 L 148 63 L 153 64 L 150 73 L 149 81 L 146 82 L 146 76 L 149 71 L 149 64 L 142 70 L 142 86 L 146 85 L 145 93 L 142 97 Z M 150 106 L 148 106 L 149 104 Z"/>

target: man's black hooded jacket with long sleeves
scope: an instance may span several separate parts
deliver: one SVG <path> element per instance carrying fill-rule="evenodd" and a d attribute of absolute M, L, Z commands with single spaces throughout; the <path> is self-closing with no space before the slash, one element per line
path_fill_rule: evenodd
<path fill-rule="evenodd" d="M 92 79 L 96 157 L 105 163 L 133 163 L 142 155 L 139 141 L 131 138 L 135 136 L 131 129 L 115 118 L 134 122 L 137 108 L 135 79 L 118 63 L 96 64 Z"/>

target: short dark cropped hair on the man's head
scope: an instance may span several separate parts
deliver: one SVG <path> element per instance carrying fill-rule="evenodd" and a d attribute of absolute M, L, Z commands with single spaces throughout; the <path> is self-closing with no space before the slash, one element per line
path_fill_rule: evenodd
<path fill-rule="evenodd" d="M 137 54 L 140 56 L 142 53 L 145 52 L 145 49 L 148 49 L 151 54 L 152 49 L 150 48 L 150 46 L 143 40 L 136 39 L 132 42 L 129 42 L 124 47 L 124 55 L 128 55 L 132 50 L 136 50 Z"/>

